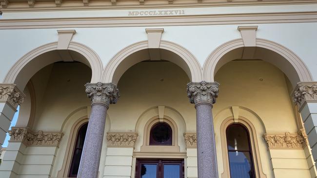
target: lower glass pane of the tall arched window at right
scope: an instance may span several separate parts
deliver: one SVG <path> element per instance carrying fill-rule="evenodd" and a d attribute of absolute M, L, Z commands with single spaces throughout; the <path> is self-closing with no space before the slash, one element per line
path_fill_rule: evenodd
<path fill-rule="evenodd" d="M 247 151 L 229 151 L 231 178 L 254 178 L 250 153 Z"/>

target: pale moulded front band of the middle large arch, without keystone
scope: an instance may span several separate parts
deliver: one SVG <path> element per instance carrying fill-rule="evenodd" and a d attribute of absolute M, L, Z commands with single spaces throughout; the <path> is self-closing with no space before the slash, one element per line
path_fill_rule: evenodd
<path fill-rule="evenodd" d="M 122 49 L 119 53 L 117 53 L 106 65 L 103 74 L 102 74 L 102 82 L 105 83 L 115 83 L 117 84 L 119 79 L 115 79 L 115 72 L 118 69 L 119 64 L 130 54 L 136 53 L 138 51 L 148 49 L 148 41 L 139 41 L 137 43 L 133 43 L 132 45 Z M 196 57 L 190 53 L 187 49 L 184 47 L 170 41 L 161 40 L 159 44 L 159 49 L 164 49 L 167 51 L 171 51 L 173 53 L 176 53 L 178 56 L 180 56 L 186 65 L 188 66 L 191 76 L 189 76 L 190 80 L 192 82 L 200 82 L 202 80 L 202 69 L 201 66 L 196 59 Z M 130 64 L 130 66 L 127 68 L 129 69 L 134 64 L 138 63 L 140 61 L 137 61 L 133 64 Z M 179 66 L 181 67 L 181 66 Z M 183 69 L 184 70 L 184 69 Z M 186 70 L 184 70 L 186 71 Z"/>

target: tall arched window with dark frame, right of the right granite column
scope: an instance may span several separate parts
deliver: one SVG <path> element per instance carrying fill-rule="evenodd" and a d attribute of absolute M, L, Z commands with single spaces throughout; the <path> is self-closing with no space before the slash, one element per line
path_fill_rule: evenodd
<path fill-rule="evenodd" d="M 226 129 L 231 178 L 255 178 L 250 135 L 241 124 Z"/>

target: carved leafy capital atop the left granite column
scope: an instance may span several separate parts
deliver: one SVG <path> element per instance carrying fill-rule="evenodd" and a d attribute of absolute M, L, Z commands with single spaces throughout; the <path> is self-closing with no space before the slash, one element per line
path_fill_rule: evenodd
<path fill-rule="evenodd" d="M 119 89 L 112 83 L 87 83 L 85 85 L 87 96 L 91 100 L 91 105 L 103 104 L 109 107 L 109 104 L 116 104 L 119 98 Z"/>

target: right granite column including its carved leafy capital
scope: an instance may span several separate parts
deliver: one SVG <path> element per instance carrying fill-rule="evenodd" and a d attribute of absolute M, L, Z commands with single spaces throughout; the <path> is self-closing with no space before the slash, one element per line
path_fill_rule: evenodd
<path fill-rule="evenodd" d="M 218 178 L 212 107 L 218 97 L 217 82 L 187 84 L 189 101 L 195 104 L 197 119 L 198 178 Z"/>

